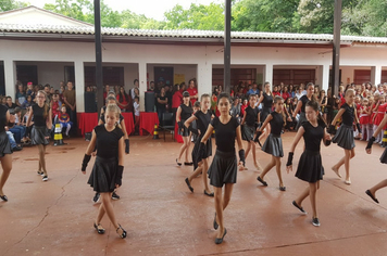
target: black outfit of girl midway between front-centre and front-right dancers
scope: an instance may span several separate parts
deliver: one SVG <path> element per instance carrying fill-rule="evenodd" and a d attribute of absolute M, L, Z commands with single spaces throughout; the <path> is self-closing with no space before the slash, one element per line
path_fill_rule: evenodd
<path fill-rule="evenodd" d="M 271 113 L 273 119 L 270 120 L 272 127 L 265 143 L 262 145 L 262 151 L 276 157 L 284 156 L 283 140 L 280 139 L 280 132 L 284 127 L 284 116 L 275 111 Z"/>

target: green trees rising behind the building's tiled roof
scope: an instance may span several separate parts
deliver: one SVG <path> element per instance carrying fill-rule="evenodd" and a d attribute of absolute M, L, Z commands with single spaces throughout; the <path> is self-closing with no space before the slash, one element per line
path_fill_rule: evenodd
<path fill-rule="evenodd" d="M 176 4 L 164 21 L 148 18 L 130 10 L 114 11 L 101 0 L 101 25 L 135 29 L 224 29 L 224 4 Z M 232 0 L 232 30 L 332 34 L 335 0 Z M 0 0 L 0 12 L 27 7 Z M 93 24 L 92 0 L 55 0 L 45 9 Z M 342 0 L 344 35 L 387 37 L 387 0 Z"/>

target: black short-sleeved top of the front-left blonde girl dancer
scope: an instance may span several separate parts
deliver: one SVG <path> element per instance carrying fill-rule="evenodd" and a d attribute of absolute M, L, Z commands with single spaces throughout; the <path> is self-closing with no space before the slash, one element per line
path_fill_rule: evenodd
<path fill-rule="evenodd" d="M 102 158 L 118 157 L 118 141 L 124 132 L 118 127 L 108 131 L 104 125 L 95 127 L 97 135 L 97 155 Z"/>

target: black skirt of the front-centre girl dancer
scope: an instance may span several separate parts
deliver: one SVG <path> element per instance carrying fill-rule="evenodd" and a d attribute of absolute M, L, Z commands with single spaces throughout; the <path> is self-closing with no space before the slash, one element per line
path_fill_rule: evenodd
<path fill-rule="evenodd" d="M 236 183 L 237 171 L 238 163 L 235 152 L 222 152 L 216 150 L 208 171 L 210 184 L 222 188 L 225 183 Z"/>

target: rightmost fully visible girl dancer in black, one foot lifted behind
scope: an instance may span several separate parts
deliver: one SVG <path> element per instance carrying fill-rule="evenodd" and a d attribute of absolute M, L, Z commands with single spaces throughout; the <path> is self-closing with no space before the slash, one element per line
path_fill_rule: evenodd
<path fill-rule="evenodd" d="M 354 90 L 348 89 L 346 91 L 346 103 L 344 103 L 333 119 L 329 126 L 329 133 L 335 133 L 335 126 L 337 120 L 342 117 L 341 126 L 338 128 L 335 137 L 332 139 L 334 143 L 344 149 L 345 156 L 332 167 L 332 170 L 341 178 L 339 168 L 345 165 L 346 168 L 346 184 L 351 184 L 351 179 L 349 177 L 349 161 L 354 157 L 354 138 L 353 138 L 353 120 L 355 120 L 359 132 L 361 132 L 357 107 L 353 104 L 354 101 Z"/>

